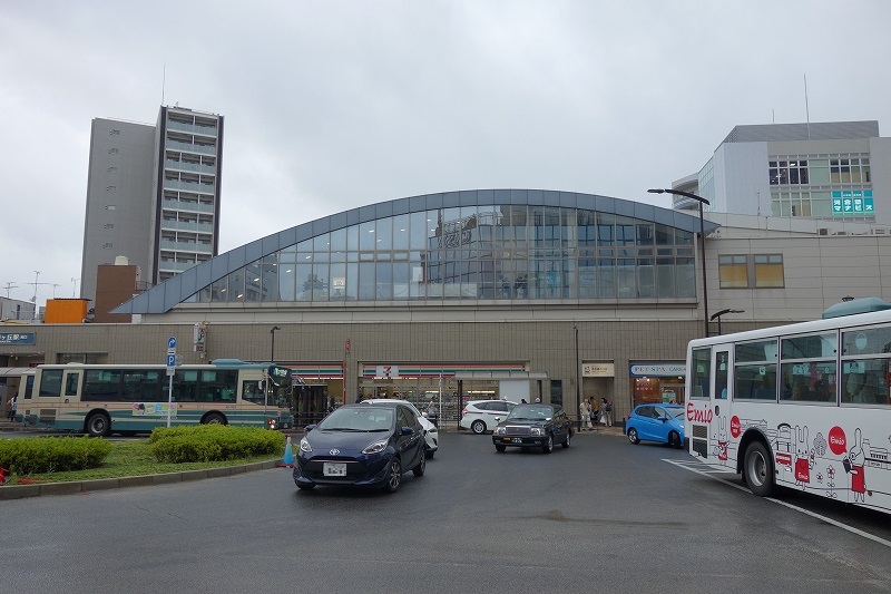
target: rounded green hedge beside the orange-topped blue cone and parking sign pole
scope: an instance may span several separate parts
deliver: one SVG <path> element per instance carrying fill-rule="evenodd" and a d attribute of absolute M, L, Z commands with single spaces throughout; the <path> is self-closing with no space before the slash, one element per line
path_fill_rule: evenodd
<path fill-rule="evenodd" d="M 281 454 L 285 437 L 257 427 L 199 425 L 158 427 L 148 442 L 149 452 L 159 462 L 206 462 Z"/>

